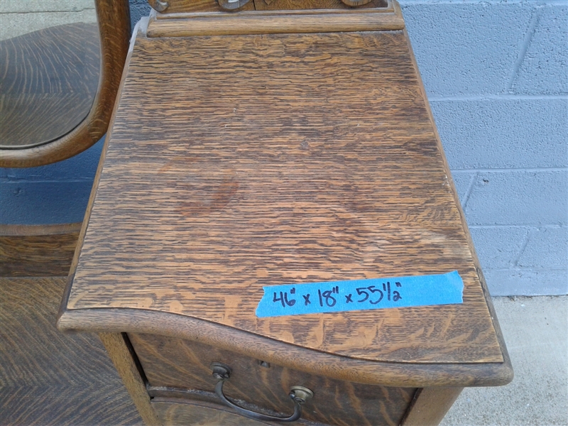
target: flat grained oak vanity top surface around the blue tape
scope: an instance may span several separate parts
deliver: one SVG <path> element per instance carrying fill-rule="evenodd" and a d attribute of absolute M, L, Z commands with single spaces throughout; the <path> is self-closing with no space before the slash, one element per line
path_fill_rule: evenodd
<path fill-rule="evenodd" d="M 138 35 L 103 156 L 60 327 L 508 363 L 403 31 Z M 461 305 L 255 315 L 264 285 L 454 270 Z"/>

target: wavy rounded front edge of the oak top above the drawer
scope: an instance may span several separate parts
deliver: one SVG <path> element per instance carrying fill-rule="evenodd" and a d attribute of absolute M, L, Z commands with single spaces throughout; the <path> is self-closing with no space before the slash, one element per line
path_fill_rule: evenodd
<path fill-rule="evenodd" d="M 382 386 L 501 386 L 510 364 L 411 364 L 367 361 L 327 354 L 185 315 L 133 308 L 62 310 L 65 332 L 132 332 L 199 341 L 299 371 Z"/>

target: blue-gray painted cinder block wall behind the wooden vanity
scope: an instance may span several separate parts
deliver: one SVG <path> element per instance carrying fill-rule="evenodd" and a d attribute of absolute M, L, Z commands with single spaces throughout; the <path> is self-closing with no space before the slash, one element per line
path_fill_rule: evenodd
<path fill-rule="evenodd" d="M 400 4 L 491 294 L 567 294 L 567 3 Z M 0 222 L 82 220 L 101 148 L 1 170 Z"/>

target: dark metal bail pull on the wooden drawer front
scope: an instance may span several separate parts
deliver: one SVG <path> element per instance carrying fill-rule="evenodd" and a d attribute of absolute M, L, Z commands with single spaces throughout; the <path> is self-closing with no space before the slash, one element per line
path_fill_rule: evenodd
<path fill-rule="evenodd" d="M 293 415 L 290 415 L 290 417 L 278 417 L 274 415 L 256 413 L 231 403 L 231 401 L 229 401 L 224 395 L 223 384 L 231 377 L 231 367 L 221 362 L 214 362 L 211 364 L 211 369 L 213 371 L 213 376 L 218 380 L 217 385 L 215 385 L 215 393 L 217 393 L 219 399 L 222 400 L 225 405 L 229 405 L 229 407 L 233 408 L 237 413 L 244 415 L 245 417 L 250 417 L 251 419 L 267 420 L 270 422 L 295 422 L 302 416 L 302 404 L 314 396 L 314 393 L 308 388 L 304 388 L 303 386 L 292 386 L 292 388 L 290 388 L 289 395 L 294 401 Z"/>

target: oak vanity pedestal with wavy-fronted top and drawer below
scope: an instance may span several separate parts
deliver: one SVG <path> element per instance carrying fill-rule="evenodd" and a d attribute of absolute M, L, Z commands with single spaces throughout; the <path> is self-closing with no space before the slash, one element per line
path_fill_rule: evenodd
<path fill-rule="evenodd" d="M 151 4 L 58 322 L 146 423 L 436 425 L 508 383 L 398 4 Z M 451 271 L 461 303 L 256 315 L 263 286 Z"/>

